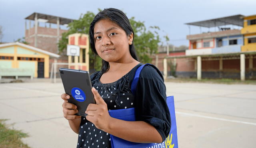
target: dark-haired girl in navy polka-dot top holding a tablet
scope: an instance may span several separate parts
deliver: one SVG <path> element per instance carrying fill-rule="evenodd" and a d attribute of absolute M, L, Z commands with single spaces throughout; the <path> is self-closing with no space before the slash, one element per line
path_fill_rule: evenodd
<path fill-rule="evenodd" d="M 127 16 L 109 8 L 99 12 L 90 24 L 90 47 L 102 58 L 102 69 L 93 73 L 92 93 L 96 104 L 86 109 L 86 117 L 76 116 L 76 106 L 62 94 L 64 117 L 78 134 L 77 148 L 111 148 L 110 134 L 139 143 L 160 143 L 170 132 L 166 87 L 160 71 L 145 66 L 140 73 L 136 94 L 131 83 L 138 62 L 134 32 Z M 135 107 L 137 121 L 112 118 L 108 110 Z"/>

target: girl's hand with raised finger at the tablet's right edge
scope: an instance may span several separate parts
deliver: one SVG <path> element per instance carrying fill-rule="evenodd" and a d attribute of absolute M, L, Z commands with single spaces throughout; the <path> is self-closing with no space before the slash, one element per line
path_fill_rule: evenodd
<path fill-rule="evenodd" d="M 98 91 L 92 87 L 92 93 L 96 104 L 89 104 L 85 113 L 86 119 L 92 122 L 96 128 L 106 130 L 110 123 L 111 116 L 108 114 L 108 107 L 105 101 L 100 97 Z"/>

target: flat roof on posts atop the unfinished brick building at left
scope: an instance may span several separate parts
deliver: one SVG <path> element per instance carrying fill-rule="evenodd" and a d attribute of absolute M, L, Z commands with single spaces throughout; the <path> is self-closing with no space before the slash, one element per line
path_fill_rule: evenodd
<path fill-rule="evenodd" d="M 36 13 L 36 12 L 34 12 L 30 16 L 26 17 L 25 19 L 26 20 L 35 20 L 36 14 L 37 14 L 37 19 L 48 20 L 48 23 L 53 23 L 53 24 L 57 24 L 57 18 L 60 19 L 60 25 L 69 24 L 70 22 L 74 21 L 74 20 L 68 19 L 68 18 L 62 18 L 59 16 L 52 16 L 52 15 L 41 14 L 41 13 Z"/>

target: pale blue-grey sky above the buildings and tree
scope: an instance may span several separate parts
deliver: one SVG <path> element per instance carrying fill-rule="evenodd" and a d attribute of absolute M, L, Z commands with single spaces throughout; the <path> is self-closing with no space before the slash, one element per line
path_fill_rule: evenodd
<path fill-rule="evenodd" d="M 96 14 L 98 8 L 117 8 L 128 18 L 143 21 L 148 29 L 158 26 L 164 44 L 163 36 L 167 34 L 169 44 L 188 46 L 189 29 L 185 23 L 255 15 L 255 7 L 256 0 L 0 0 L 0 26 L 2 42 L 13 42 L 25 36 L 24 18 L 34 12 L 76 20 L 87 11 Z M 202 32 L 208 31 L 202 28 Z M 190 34 L 200 34 L 200 28 L 191 26 Z"/>

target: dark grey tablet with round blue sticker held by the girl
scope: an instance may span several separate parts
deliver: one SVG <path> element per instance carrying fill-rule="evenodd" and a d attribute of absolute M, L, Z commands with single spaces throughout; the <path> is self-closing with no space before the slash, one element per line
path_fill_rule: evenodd
<path fill-rule="evenodd" d="M 89 72 L 66 68 L 60 68 L 59 71 L 65 93 L 70 95 L 68 102 L 77 106 L 76 115 L 86 116 L 87 106 L 95 104 Z"/>

